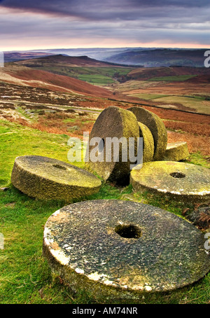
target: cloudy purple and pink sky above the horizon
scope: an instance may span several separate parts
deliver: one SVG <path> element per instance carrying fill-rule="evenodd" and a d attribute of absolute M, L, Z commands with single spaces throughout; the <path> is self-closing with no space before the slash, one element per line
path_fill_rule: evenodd
<path fill-rule="evenodd" d="M 210 48 L 209 0 L 0 0 L 0 50 Z"/>

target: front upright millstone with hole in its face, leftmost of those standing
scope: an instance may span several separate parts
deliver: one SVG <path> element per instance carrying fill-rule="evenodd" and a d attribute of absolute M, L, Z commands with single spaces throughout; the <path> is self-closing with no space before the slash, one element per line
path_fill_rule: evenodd
<path fill-rule="evenodd" d="M 101 139 L 98 148 L 96 148 L 97 142 L 91 145 L 95 137 Z M 85 160 L 89 160 L 92 170 L 97 172 L 104 181 L 129 184 L 130 165 L 134 165 L 137 160 L 133 162 L 130 160 L 130 137 L 134 140 L 133 155 L 137 157 L 139 125 L 136 116 L 131 111 L 116 106 L 110 106 L 100 113 L 90 132 Z M 119 143 L 120 139 L 122 143 Z M 114 147 L 113 143 L 111 146 L 111 141 L 115 141 L 117 146 Z M 95 158 L 92 158 L 92 153 L 95 154 Z"/>

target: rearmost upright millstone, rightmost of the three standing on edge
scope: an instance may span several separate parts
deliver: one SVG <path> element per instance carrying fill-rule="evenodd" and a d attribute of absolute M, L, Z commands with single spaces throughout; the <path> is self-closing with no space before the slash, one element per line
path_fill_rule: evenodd
<path fill-rule="evenodd" d="M 162 119 L 142 107 L 131 107 L 128 110 L 134 113 L 140 123 L 143 123 L 151 130 L 155 145 L 153 160 L 162 160 L 167 148 L 167 130 Z"/>

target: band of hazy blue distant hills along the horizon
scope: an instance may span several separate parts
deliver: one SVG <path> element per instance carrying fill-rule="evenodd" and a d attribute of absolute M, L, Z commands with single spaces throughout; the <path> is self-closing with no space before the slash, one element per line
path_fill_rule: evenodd
<path fill-rule="evenodd" d="M 70 57 L 89 57 L 93 60 L 123 65 L 144 67 L 203 67 L 204 52 L 208 49 L 183 48 L 60 48 L 5 52 L 5 62 L 29 60 L 36 57 L 62 55 Z M 90 61 L 89 61 L 90 62 Z"/>

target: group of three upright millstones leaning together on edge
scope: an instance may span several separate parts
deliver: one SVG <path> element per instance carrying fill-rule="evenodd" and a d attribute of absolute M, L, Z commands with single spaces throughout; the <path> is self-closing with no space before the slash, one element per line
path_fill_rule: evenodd
<path fill-rule="evenodd" d="M 108 150 L 107 140 L 124 137 L 126 142 L 119 144 L 119 158 L 114 160 L 113 148 Z M 138 138 L 143 138 L 142 162 L 163 160 L 167 149 L 167 130 L 162 120 L 146 109 L 132 107 L 120 109 L 110 106 L 104 109 L 97 118 L 90 132 L 89 144 L 86 152 L 86 161 L 92 170 L 97 172 L 105 181 L 126 185 L 130 181 L 130 166 L 136 161 L 130 159 L 130 138 L 134 139 L 134 158 L 137 158 Z M 97 149 L 96 138 L 100 139 Z M 124 141 L 125 141 L 124 140 Z M 92 160 L 91 153 L 97 154 L 97 160 Z M 107 160 L 107 153 L 108 158 Z M 127 154 L 127 160 L 123 159 L 122 153 Z"/>

